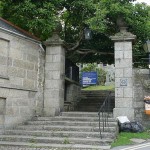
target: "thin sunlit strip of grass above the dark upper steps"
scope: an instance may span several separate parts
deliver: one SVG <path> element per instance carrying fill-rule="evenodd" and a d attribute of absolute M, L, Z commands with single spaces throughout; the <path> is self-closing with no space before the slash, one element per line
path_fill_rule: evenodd
<path fill-rule="evenodd" d="M 102 86 L 102 85 L 94 85 L 94 86 L 89 86 L 85 87 L 82 90 L 114 90 L 115 86 L 114 85 L 109 85 L 109 86 Z"/>

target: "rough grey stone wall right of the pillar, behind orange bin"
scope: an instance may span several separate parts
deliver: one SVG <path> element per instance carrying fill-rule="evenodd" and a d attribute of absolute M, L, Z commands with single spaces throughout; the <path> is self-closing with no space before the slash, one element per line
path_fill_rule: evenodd
<path fill-rule="evenodd" d="M 144 110 L 144 96 L 149 96 L 150 91 L 144 85 L 149 79 L 148 69 L 134 69 L 134 82 L 133 82 L 133 93 L 134 93 L 134 111 L 135 120 L 142 122 L 145 126 L 150 124 L 150 116 L 146 115 Z"/>

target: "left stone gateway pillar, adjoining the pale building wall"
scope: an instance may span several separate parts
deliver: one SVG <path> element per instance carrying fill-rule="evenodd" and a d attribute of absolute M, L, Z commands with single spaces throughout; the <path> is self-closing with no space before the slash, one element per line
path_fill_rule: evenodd
<path fill-rule="evenodd" d="M 54 33 L 45 43 L 44 115 L 55 116 L 64 108 L 65 50 Z"/>

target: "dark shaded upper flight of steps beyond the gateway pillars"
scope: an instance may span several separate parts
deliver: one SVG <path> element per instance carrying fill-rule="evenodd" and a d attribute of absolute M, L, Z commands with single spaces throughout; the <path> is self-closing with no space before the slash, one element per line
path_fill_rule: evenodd
<path fill-rule="evenodd" d="M 77 111 L 98 112 L 100 106 L 103 104 L 109 91 L 81 91 L 81 100 L 78 103 Z M 110 100 L 110 110 L 113 111 L 115 107 L 115 93 L 112 91 Z"/>

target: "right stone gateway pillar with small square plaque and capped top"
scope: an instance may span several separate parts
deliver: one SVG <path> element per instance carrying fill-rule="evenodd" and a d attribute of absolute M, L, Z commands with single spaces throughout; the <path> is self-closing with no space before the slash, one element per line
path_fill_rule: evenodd
<path fill-rule="evenodd" d="M 114 117 L 134 119 L 134 94 L 132 71 L 132 41 L 136 36 L 120 27 L 120 32 L 110 37 L 115 47 L 115 108 Z"/>

